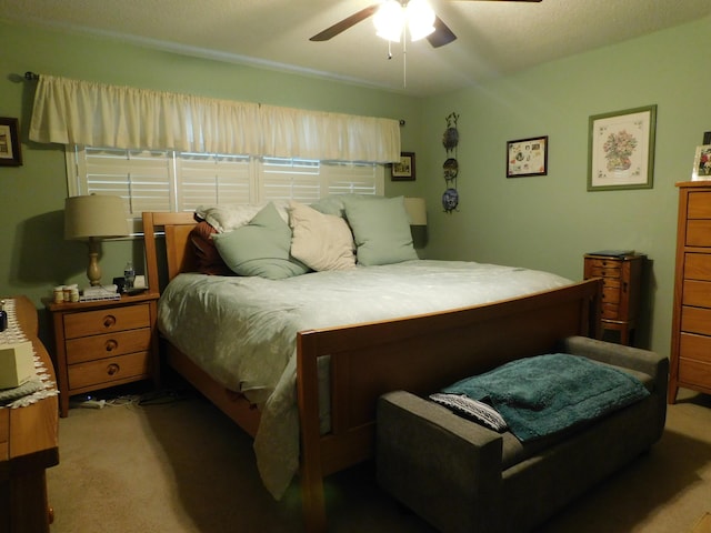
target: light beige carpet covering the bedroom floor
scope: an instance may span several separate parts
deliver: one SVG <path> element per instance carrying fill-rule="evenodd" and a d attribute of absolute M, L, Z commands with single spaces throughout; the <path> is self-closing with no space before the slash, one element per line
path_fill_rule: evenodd
<path fill-rule="evenodd" d="M 166 404 L 71 409 L 48 471 L 52 533 L 301 531 L 298 485 L 261 486 L 251 440 L 197 394 Z M 372 464 L 327 480 L 334 532 L 432 532 L 374 483 Z M 648 455 L 540 533 L 678 533 L 711 511 L 711 398 L 681 391 Z"/>

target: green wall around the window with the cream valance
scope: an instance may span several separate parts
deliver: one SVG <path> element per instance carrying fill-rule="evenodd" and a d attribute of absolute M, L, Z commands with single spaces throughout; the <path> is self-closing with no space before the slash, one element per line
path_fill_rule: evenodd
<path fill-rule="evenodd" d="M 64 151 L 27 137 L 34 83 L 26 71 L 302 109 L 404 119 L 403 150 L 418 151 L 421 101 L 393 92 L 197 59 L 111 39 L 24 27 L 0 20 L 0 117 L 20 119 L 24 164 L 0 168 L 0 294 L 27 294 L 41 308 L 52 286 L 87 284 L 87 248 L 64 241 Z M 389 195 L 410 194 L 412 183 L 385 184 Z M 142 242 L 102 243 L 103 282 L 122 275 L 132 259 L 142 263 Z M 140 272 L 140 269 L 137 269 Z"/>

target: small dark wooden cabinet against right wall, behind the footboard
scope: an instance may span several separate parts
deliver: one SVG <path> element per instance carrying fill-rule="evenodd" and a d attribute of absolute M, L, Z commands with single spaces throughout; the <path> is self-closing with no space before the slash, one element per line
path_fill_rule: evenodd
<path fill-rule="evenodd" d="M 618 331 L 620 344 L 630 344 L 637 329 L 645 259 L 639 253 L 584 255 L 584 279 L 602 278 L 602 329 Z"/>

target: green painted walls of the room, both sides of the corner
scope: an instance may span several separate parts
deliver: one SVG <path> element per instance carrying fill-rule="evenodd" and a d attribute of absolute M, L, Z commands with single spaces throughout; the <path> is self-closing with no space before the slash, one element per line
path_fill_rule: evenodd
<path fill-rule="evenodd" d="M 711 131 L 708 107 L 711 18 L 550 62 L 473 88 L 417 99 L 310 76 L 183 57 L 116 40 L 0 21 L 0 117 L 18 117 L 24 165 L 0 168 L 0 293 L 38 306 L 58 283 L 83 284 L 86 249 L 62 239 L 63 150 L 27 139 L 31 83 L 40 73 L 278 105 L 404 119 L 402 148 L 417 152 L 417 181 L 388 182 L 389 195 L 423 195 L 428 258 L 468 259 L 582 278 L 584 252 L 647 253 L 639 344 L 668 353 L 673 292 L 677 189 L 694 148 Z M 472 53 L 475 53 L 473 51 Z M 654 187 L 587 192 L 588 118 L 655 103 Z M 440 208 L 445 183 L 444 118 L 460 114 L 458 212 Z M 505 178 L 509 140 L 549 135 L 549 173 Z M 140 243 L 103 244 L 104 281 L 120 275 Z"/>

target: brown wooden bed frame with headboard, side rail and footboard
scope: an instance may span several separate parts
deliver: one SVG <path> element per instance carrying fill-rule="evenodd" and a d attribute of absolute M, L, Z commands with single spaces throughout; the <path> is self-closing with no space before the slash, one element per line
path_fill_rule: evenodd
<path fill-rule="evenodd" d="M 192 213 L 143 213 L 152 289 L 194 271 Z M 157 235 L 164 231 L 159 264 Z M 162 278 L 159 272 L 167 272 Z M 167 270 L 166 270 L 167 269 Z M 297 338 L 300 481 L 306 527 L 326 531 L 323 477 L 374 455 L 375 400 L 384 392 L 435 391 L 504 362 L 551 351 L 569 335 L 599 336 L 600 280 L 491 304 L 392 321 L 302 331 Z M 252 436 L 259 412 L 168 344 L 169 364 Z M 317 359 L 331 356 L 331 432 L 319 431 Z"/>

